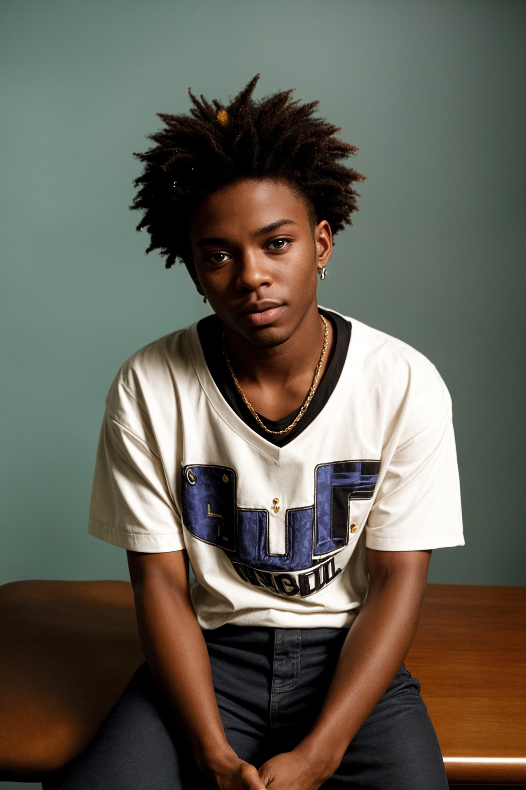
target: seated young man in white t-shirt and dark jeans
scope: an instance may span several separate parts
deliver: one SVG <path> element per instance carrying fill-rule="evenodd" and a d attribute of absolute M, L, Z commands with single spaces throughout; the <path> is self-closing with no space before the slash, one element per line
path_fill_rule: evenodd
<path fill-rule="evenodd" d="M 256 81 L 139 155 L 148 251 L 214 315 L 106 400 L 89 529 L 128 551 L 147 664 L 64 788 L 447 788 L 402 662 L 431 550 L 463 543 L 450 397 L 318 307 L 356 149 Z"/>

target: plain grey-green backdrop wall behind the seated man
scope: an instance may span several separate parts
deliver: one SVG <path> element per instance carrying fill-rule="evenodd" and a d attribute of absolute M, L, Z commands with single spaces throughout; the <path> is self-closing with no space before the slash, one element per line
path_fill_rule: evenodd
<path fill-rule="evenodd" d="M 127 578 L 86 532 L 121 363 L 207 313 L 146 257 L 132 152 L 185 112 L 296 88 L 360 148 L 319 301 L 431 358 L 453 397 L 466 546 L 430 580 L 524 584 L 520 0 L 2 0 L 0 583 Z M 446 525 L 447 510 L 443 520 Z M 17 785 L 20 787 L 21 785 Z"/>

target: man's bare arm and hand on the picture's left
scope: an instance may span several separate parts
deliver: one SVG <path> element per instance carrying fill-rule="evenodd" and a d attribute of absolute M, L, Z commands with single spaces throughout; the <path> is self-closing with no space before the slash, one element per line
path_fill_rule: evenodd
<path fill-rule="evenodd" d="M 140 643 L 191 743 L 197 765 L 220 790 L 264 790 L 254 766 L 226 741 L 207 645 L 190 599 L 185 551 L 127 551 Z"/>

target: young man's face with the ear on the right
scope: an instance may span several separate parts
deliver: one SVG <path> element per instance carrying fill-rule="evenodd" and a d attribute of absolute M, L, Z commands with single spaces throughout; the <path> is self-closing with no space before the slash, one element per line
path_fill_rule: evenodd
<path fill-rule="evenodd" d="M 270 347 L 319 322 L 317 273 L 330 257 L 330 227 L 313 227 L 285 182 L 247 179 L 211 194 L 192 215 L 189 239 L 197 289 L 227 330 Z"/>

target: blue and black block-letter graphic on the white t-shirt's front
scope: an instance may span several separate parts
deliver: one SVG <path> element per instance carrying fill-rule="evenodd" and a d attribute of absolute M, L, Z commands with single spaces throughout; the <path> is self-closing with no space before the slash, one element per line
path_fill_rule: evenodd
<path fill-rule="evenodd" d="M 229 467 L 182 469 L 183 521 L 193 536 L 225 551 L 244 581 L 280 595 L 304 597 L 341 573 L 335 555 L 349 543 L 353 529 L 349 503 L 371 499 L 378 474 L 379 461 L 316 466 L 313 505 L 286 510 L 284 554 L 270 553 L 269 511 L 237 507 L 237 475 Z"/>

